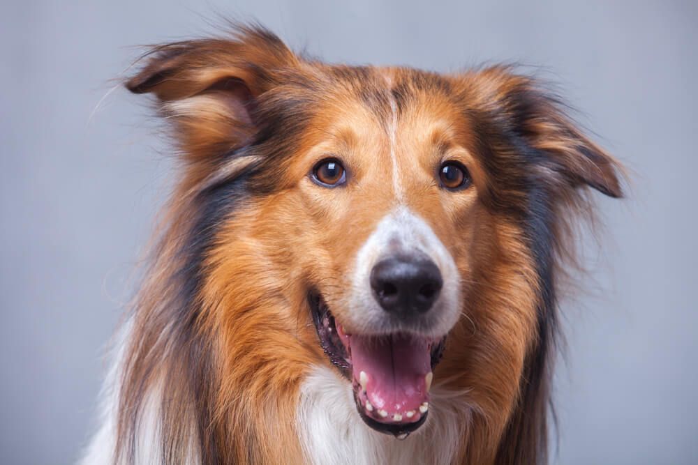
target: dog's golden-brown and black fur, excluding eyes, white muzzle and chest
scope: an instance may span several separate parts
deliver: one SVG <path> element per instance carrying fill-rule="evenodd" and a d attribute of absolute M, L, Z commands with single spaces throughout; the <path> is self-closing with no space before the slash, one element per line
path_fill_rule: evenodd
<path fill-rule="evenodd" d="M 588 186 L 621 196 L 618 165 L 528 77 L 329 66 L 259 28 L 155 47 L 126 86 L 153 93 L 183 168 L 135 307 L 119 398 L 117 462 L 135 457 L 144 402 L 161 386 L 165 463 L 300 463 L 300 383 L 328 364 L 306 297 L 337 319 L 343 280 L 404 202 L 447 245 L 463 315 L 435 379 L 468 390 L 463 464 L 547 461 L 556 268 Z M 319 191 L 326 153 L 360 186 Z M 439 190 L 432 166 L 459 160 L 472 189 Z"/>

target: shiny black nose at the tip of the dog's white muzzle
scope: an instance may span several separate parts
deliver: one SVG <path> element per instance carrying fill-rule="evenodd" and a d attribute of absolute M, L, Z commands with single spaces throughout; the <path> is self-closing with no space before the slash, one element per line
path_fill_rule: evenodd
<path fill-rule="evenodd" d="M 442 285 L 441 272 L 428 257 L 390 257 L 371 270 L 373 296 L 386 312 L 427 312 Z"/>

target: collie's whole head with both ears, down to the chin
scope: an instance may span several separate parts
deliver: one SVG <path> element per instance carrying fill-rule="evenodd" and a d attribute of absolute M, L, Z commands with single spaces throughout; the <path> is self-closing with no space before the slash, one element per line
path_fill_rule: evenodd
<path fill-rule="evenodd" d="M 442 383 L 503 431 L 543 375 L 564 211 L 621 195 L 553 97 L 505 67 L 330 66 L 258 29 L 158 47 L 127 85 L 174 123 L 203 212 L 192 292 L 230 373 L 255 376 L 241 345 L 255 367 L 333 363 L 397 436 Z"/>

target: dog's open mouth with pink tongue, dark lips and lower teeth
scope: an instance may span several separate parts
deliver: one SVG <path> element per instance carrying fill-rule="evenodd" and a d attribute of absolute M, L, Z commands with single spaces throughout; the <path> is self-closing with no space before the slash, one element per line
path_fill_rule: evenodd
<path fill-rule="evenodd" d="M 308 300 L 320 346 L 351 381 L 362 420 L 379 432 L 405 439 L 429 413 L 432 370 L 446 337 L 347 334 L 319 294 L 309 294 Z"/>

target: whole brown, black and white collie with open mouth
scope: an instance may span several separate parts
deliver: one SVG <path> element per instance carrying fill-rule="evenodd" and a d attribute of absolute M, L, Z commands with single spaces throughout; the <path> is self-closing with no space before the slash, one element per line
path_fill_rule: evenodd
<path fill-rule="evenodd" d="M 556 287 L 621 166 L 533 77 L 151 49 L 181 170 L 84 464 L 537 464 Z"/>

